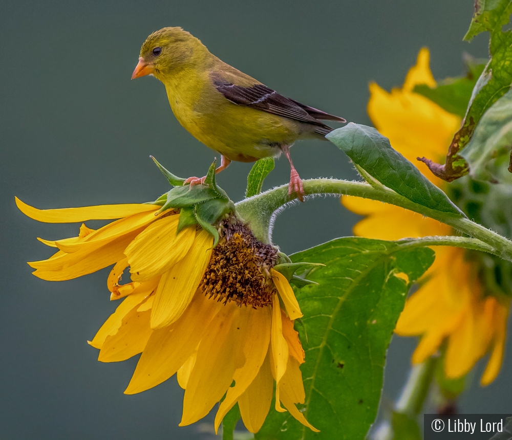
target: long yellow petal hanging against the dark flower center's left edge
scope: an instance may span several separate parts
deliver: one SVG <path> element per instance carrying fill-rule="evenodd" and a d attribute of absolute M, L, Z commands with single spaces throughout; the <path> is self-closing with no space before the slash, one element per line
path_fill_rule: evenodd
<path fill-rule="evenodd" d="M 152 328 L 172 324 L 185 311 L 208 266 L 213 240 L 201 230 L 186 256 L 162 275 L 151 313 Z"/>

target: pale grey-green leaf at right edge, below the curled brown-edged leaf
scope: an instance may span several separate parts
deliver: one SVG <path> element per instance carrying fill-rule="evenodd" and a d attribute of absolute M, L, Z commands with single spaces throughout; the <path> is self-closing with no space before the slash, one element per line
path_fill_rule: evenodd
<path fill-rule="evenodd" d="M 512 91 L 508 91 L 483 115 L 461 156 L 477 180 L 512 183 L 507 171 L 512 149 Z"/>

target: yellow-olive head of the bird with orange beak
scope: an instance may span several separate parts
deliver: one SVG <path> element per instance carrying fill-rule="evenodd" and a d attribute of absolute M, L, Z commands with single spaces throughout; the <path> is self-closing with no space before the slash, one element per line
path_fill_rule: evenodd
<path fill-rule="evenodd" d="M 146 38 L 132 79 L 154 75 L 163 80 L 209 54 L 201 41 L 181 28 L 163 28 Z"/>

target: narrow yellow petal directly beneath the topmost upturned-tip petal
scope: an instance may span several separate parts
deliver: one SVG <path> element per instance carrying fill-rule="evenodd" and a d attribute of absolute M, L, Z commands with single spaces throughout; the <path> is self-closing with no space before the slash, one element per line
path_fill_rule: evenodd
<path fill-rule="evenodd" d="M 81 240 L 65 238 L 55 241 L 55 244 L 57 245 L 57 248 L 67 253 L 73 253 L 84 249 L 91 252 L 117 237 L 129 234 L 133 231 L 142 231 L 142 228 L 144 228 L 148 223 L 153 222 L 156 218 L 158 217 L 155 216 L 153 211 L 141 212 L 140 214 L 130 215 L 129 217 L 124 217 L 120 220 L 109 223 L 108 225 L 88 234 Z"/>

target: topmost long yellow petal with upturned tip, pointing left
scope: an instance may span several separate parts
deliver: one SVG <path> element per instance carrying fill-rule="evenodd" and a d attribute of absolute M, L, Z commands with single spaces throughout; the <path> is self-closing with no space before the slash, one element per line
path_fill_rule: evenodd
<path fill-rule="evenodd" d="M 16 206 L 25 215 L 38 222 L 46 223 L 76 223 L 86 220 L 108 220 L 112 218 L 127 217 L 139 212 L 155 211 L 160 209 L 156 205 L 126 204 L 126 205 L 98 205 L 84 206 L 82 208 L 63 209 L 37 209 L 23 203 L 14 197 Z"/>

